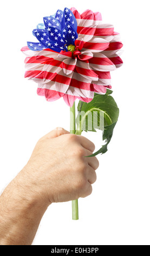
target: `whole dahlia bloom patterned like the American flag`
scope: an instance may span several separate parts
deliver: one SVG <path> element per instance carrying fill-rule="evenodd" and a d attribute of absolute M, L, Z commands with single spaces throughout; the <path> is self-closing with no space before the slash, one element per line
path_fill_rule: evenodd
<path fill-rule="evenodd" d="M 117 54 L 122 43 L 99 12 L 64 8 L 43 20 L 32 32 L 38 42 L 22 48 L 25 77 L 38 83 L 38 95 L 47 101 L 63 97 L 73 106 L 76 99 L 90 102 L 94 92 L 105 94 L 112 88 L 110 71 L 122 65 Z"/>

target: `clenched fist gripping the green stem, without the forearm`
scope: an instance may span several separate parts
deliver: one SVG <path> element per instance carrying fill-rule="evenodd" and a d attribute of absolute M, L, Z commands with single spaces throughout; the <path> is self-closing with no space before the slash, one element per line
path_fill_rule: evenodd
<path fill-rule="evenodd" d="M 84 156 L 91 155 L 94 149 L 87 138 L 55 129 L 37 142 L 16 179 L 29 188 L 32 196 L 47 204 L 87 197 L 92 193 L 99 161 Z"/>

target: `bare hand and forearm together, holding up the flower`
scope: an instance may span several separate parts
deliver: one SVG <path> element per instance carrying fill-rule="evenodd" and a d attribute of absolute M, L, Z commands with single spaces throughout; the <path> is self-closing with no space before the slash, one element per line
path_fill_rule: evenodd
<path fill-rule="evenodd" d="M 57 128 L 36 144 L 26 166 L 0 197 L 0 245 L 31 245 L 51 203 L 92 193 L 99 167 L 93 142 Z"/>

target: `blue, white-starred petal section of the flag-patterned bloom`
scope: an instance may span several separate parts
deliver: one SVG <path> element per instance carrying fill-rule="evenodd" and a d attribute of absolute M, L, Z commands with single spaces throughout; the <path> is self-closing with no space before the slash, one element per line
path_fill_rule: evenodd
<path fill-rule="evenodd" d="M 68 46 L 75 43 L 77 38 L 77 22 L 74 14 L 68 8 L 57 10 L 56 14 L 43 18 L 32 34 L 39 42 L 28 42 L 32 51 L 41 51 L 50 48 L 53 51 L 68 51 Z"/>

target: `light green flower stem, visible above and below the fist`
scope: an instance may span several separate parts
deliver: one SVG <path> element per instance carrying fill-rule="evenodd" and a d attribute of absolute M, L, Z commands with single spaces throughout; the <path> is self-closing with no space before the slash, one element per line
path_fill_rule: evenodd
<path fill-rule="evenodd" d="M 70 133 L 76 133 L 76 125 L 75 125 L 75 102 L 73 107 L 70 107 Z M 72 214 L 73 220 L 79 220 L 79 210 L 78 210 L 78 200 L 72 201 Z"/>

